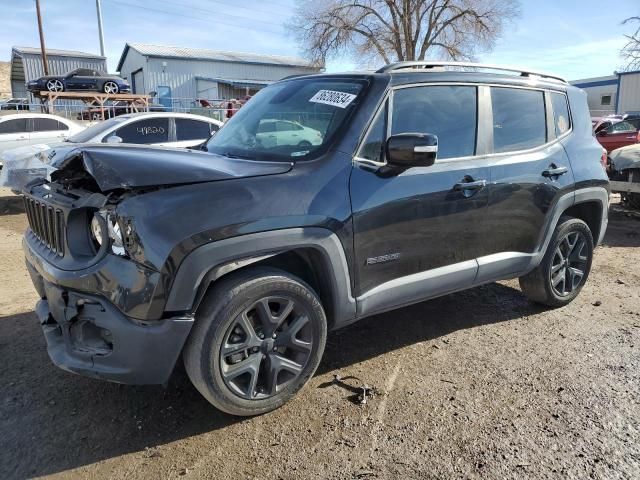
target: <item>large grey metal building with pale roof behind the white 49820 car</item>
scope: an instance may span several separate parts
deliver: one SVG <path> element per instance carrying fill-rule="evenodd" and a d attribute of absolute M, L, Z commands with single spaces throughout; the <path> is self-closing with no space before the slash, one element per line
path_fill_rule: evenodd
<path fill-rule="evenodd" d="M 241 98 L 320 68 L 297 57 L 127 43 L 117 70 L 133 93 L 157 92 L 160 103 L 189 108 L 198 99 Z"/>

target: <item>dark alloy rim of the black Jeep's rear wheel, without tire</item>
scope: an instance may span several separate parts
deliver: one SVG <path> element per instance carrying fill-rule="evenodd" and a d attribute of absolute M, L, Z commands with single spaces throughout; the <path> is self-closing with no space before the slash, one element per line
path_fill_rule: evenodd
<path fill-rule="evenodd" d="M 581 286 L 587 269 L 589 248 L 581 232 L 565 235 L 553 253 L 551 261 L 551 288 L 560 297 L 566 297 Z"/>

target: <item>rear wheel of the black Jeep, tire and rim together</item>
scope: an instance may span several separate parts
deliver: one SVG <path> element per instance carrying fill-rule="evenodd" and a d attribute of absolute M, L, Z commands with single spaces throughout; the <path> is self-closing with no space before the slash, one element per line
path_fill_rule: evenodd
<path fill-rule="evenodd" d="M 569 304 L 589 277 L 593 249 L 587 224 L 578 218 L 561 217 L 540 265 L 520 277 L 520 288 L 536 303 L 550 307 Z"/>

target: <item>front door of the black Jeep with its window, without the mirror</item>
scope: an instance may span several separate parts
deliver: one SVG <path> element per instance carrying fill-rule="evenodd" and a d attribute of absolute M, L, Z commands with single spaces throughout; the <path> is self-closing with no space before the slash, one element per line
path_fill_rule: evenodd
<path fill-rule="evenodd" d="M 399 88 L 391 111 L 374 120 L 350 184 L 361 315 L 473 283 L 475 259 L 485 254 L 490 182 L 486 160 L 476 156 L 477 104 L 475 86 Z M 436 163 L 385 174 L 385 140 L 400 133 L 437 135 Z"/>

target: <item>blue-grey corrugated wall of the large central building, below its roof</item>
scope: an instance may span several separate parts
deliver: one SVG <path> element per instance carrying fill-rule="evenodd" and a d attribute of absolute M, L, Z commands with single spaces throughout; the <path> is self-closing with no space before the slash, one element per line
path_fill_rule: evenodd
<path fill-rule="evenodd" d="M 163 62 L 166 62 L 164 71 Z M 174 105 L 177 108 L 189 108 L 192 106 L 192 101 L 202 96 L 198 94 L 198 89 L 202 93 L 204 84 L 200 80 L 198 85 L 196 77 L 276 81 L 289 75 L 317 72 L 317 69 L 283 65 L 144 57 L 133 48 L 130 48 L 120 74 L 130 79 L 132 72 L 139 68 L 143 68 L 144 71 L 145 93 L 157 90 L 158 86 L 168 86 L 171 88 Z M 224 93 L 223 90 L 220 88 L 218 94 L 222 95 Z M 212 89 L 211 91 L 214 90 Z"/>

